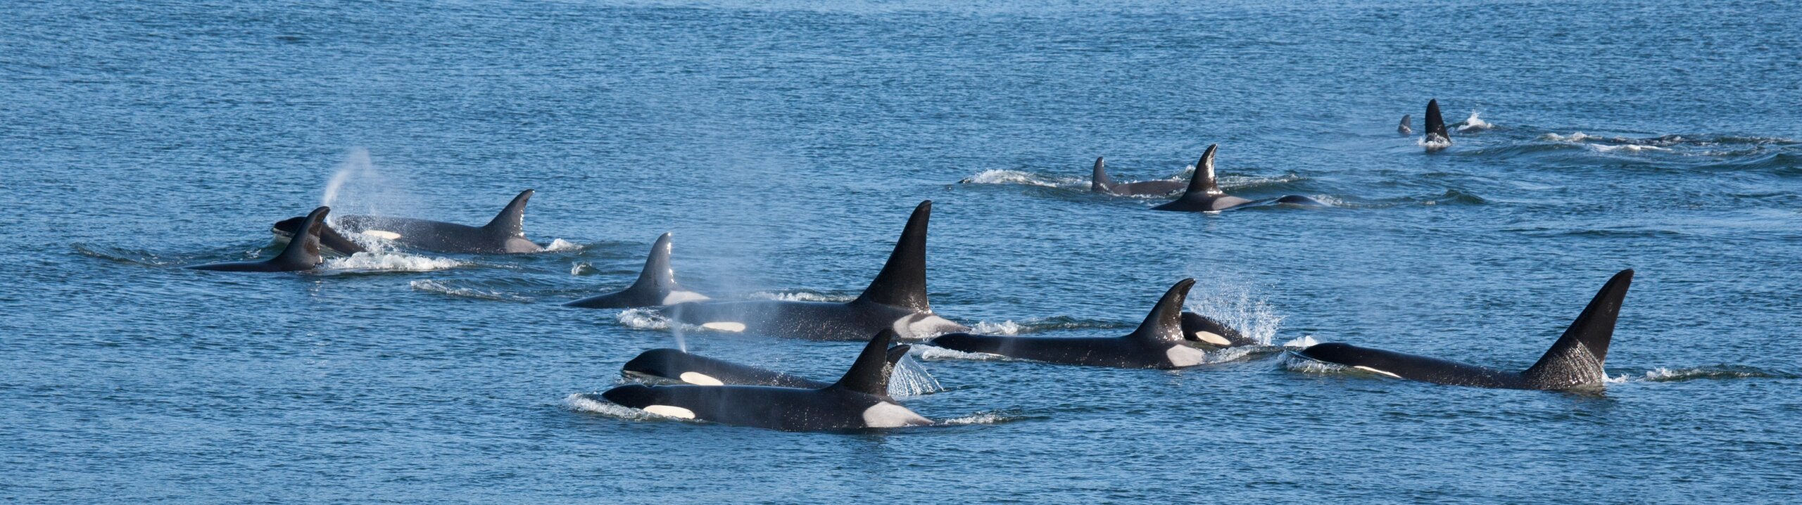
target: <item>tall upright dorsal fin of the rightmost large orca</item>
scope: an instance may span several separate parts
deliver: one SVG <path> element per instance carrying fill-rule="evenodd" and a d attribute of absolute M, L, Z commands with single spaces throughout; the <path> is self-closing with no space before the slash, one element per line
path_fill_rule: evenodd
<path fill-rule="evenodd" d="M 1564 335 L 1552 344 L 1552 350 L 1521 375 L 1535 388 L 1546 390 L 1593 386 L 1607 379 L 1602 363 L 1607 361 L 1607 343 L 1615 337 L 1615 319 L 1620 317 L 1620 303 L 1627 298 L 1629 285 L 1633 285 L 1631 269 L 1607 280 L 1577 321 L 1564 328 Z"/>

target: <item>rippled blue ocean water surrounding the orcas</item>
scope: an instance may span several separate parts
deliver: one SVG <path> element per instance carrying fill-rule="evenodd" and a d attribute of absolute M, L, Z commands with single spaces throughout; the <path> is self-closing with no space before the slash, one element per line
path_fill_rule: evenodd
<path fill-rule="evenodd" d="M 20 503 L 1793 503 L 1795 2 L 14 2 L 0 14 L 0 498 Z M 1425 153 L 1429 97 L 1454 132 Z M 1467 123 L 1470 124 L 1470 123 Z M 1326 209 L 1148 211 L 1184 177 Z M 333 182 L 335 180 L 335 182 Z M 321 202 L 524 256 L 274 254 Z M 915 357 L 944 426 L 573 402 L 676 346 L 620 289 L 676 233 L 714 296 L 849 299 L 933 200 L 933 308 L 989 332 L 1193 310 L 1524 368 L 1636 269 L 1606 393 L 1224 355 Z M 842 373 L 858 343 L 696 334 Z M 921 379 L 921 377 L 915 377 Z"/>

